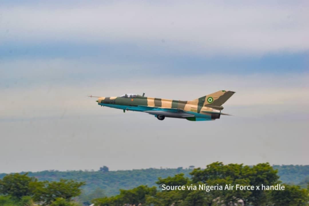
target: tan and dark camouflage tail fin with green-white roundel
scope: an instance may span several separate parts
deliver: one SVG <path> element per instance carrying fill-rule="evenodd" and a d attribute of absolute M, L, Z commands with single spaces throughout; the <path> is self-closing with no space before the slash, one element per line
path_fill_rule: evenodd
<path fill-rule="evenodd" d="M 225 91 L 220 90 L 210 95 L 206 95 L 200 97 L 198 99 L 194 99 L 194 101 L 198 100 L 198 106 L 221 106 L 228 100 L 235 91 Z M 222 107 L 223 108 L 223 107 Z"/>

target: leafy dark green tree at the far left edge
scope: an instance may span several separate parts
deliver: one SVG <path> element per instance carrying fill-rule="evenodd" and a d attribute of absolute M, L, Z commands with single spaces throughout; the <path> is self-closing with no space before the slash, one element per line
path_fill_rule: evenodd
<path fill-rule="evenodd" d="M 11 195 L 18 199 L 23 196 L 31 196 L 33 194 L 31 183 L 37 182 L 34 177 L 28 177 L 25 174 L 7 174 L 0 180 L 0 194 Z"/>

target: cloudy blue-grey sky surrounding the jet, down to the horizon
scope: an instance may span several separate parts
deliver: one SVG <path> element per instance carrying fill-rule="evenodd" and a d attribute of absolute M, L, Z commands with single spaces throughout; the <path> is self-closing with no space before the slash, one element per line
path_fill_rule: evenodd
<path fill-rule="evenodd" d="M 309 164 L 307 1 L 1 1 L 0 173 Z M 235 91 L 219 120 L 108 107 Z"/>

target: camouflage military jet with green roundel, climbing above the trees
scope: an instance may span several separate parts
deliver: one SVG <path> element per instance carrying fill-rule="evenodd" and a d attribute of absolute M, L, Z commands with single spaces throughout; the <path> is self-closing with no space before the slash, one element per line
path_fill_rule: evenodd
<path fill-rule="evenodd" d="M 125 94 L 120 97 L 97 97 L 99 105 L 125 111 L 142 111 L 154 115 L 158 120 L 165 117 L 182 118 L 190 121 L 208 121 L 219 119 L 222 104 L 235 92 L 220 90 L 192 101 L 160 99 L 143 95 Z"/>

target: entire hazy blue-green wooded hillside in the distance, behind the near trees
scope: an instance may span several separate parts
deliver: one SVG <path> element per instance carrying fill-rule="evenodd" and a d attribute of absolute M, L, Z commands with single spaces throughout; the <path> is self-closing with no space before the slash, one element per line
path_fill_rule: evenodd
<path fill-rule="evenodd" d="M 273 165 L 278 170 L 280 180 L 289 184 L 300 184 L 309 176 L 309 165 Z M 105 194 L 116 195 L 119 189 L 132 189 L 139 185 L 156 186 L 158 177 L 166 178 L 175 174 L 189 173 L 193 169 L 141 169 L 141 170 L 118 170 L 118 171 L 41 171 L 29 172 L 29 176 L 34 176 L 39 180 L 58 181 L 59 179 L 75 179 L 85 181 L 87 184 L 83 187 L 86 193 L 94 191 L 96 188 L 104 189 Z M 2 179 L 6 174 L 0 174 Z"/>

